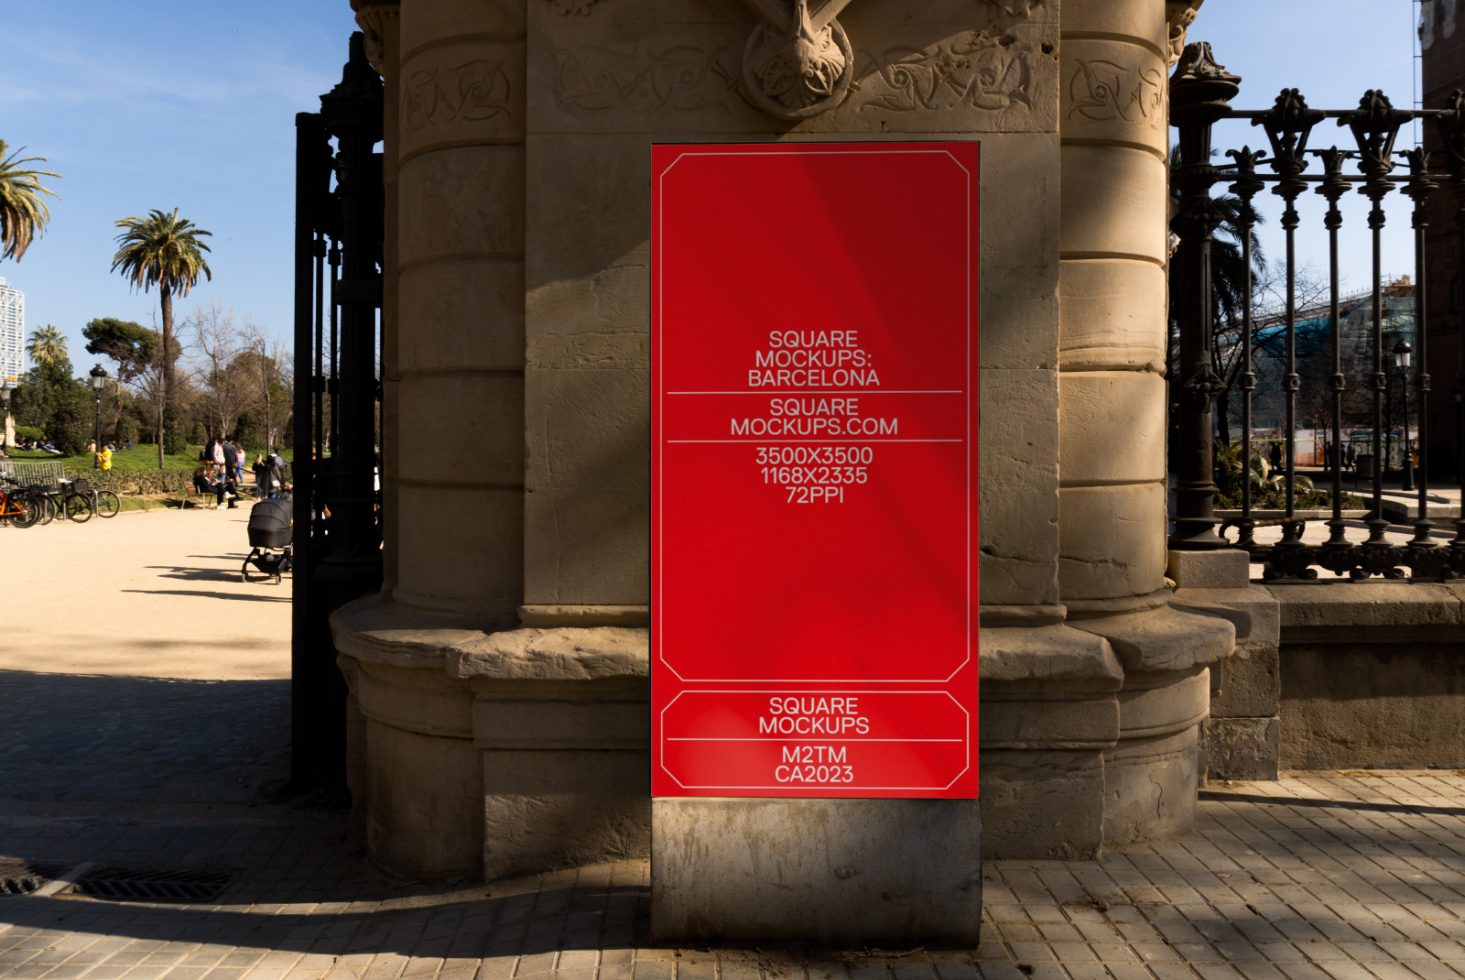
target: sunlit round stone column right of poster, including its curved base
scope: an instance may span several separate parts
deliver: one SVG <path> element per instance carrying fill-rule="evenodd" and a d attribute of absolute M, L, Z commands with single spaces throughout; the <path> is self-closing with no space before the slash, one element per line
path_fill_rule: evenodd
<path fill-rule="evenodd" d="M 1059 590 L 1124 668 L 1105 842 L 1193 819 L 1206 665 L 1234 646 L 1165 583 L 1168 34 L 1163 0 L 1064 4 Z"/>

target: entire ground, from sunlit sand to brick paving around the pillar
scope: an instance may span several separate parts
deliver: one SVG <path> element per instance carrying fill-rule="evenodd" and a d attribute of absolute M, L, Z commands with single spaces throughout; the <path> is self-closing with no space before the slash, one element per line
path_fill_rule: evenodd
<path fill-rule="evenodd" d="M 1465 772 L 1449 771 L 1212 785 L 1179 839 L 989 861 L 976 949 L 652 948 L 645 861 L 394 879 L 347 814 L 271 801 L 287 586 L 226 582 L 243 538 L 237 511 L 0 529 L 0 564 L 28 570 L 0 642 L 0 885 L 35 888 L 0 894 L 0 977 L 1465 976 Z M 123 541 L 136 567 L 88 574 Z M 75 605 L 53 615 L 63 592 Z M 174 885 L 192 901 L 117 895 Z"/>

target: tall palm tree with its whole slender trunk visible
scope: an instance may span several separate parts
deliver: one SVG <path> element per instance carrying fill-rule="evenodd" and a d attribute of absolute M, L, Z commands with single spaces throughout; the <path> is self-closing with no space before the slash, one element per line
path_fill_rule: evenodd
<path fill-rule="evenodd" d="M 122 218 L 117 221 L 122 234 L 117 236 L 117 253 L 111 256 L 111 271 L 122 274 L 133 289 L 146 292 L 158 287 L 163 306 L 163 369 L 158 387 L 158 469 L 163 469 L 166 425 L 171 420 L 168 398 L 173 397 L 173 294 L 188 296 L 198 284 L 202 272 L 212 280 L 214 274 L 204 261 L 208 245 L 201 239 L 212 234 L 199 229 L 188 218 L 179 217 L 179 209 L 167 214 L 154 208 L 145 218 Z"/>

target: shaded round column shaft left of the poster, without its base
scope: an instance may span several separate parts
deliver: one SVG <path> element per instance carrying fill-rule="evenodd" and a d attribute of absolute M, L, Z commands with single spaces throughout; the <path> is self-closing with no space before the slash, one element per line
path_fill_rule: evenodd
<path fill-rule="evenodd" d="M 523 593 L 523 13 L 401 12 L 393 595 L 479 626 Z"/>

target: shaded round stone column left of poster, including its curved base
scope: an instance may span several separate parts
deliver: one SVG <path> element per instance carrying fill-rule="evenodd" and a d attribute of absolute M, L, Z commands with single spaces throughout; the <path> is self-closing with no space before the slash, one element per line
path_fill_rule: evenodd
<path fill-rule="evenodd" d="M 475 691 L 453 650 L 517 626 L 522 598 L 523 3 L 409 0 L 396 31 L 366 26 L 396 123 L 384 166 L 390 532 L 384 592 L 334 621 L 359 709 L 352 790 L 379 863 L 479 873 Z"/>

